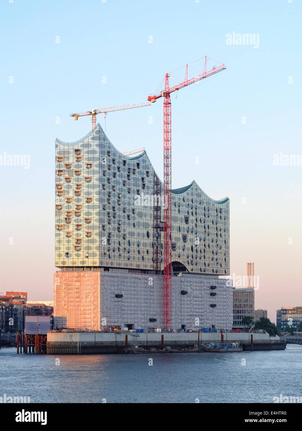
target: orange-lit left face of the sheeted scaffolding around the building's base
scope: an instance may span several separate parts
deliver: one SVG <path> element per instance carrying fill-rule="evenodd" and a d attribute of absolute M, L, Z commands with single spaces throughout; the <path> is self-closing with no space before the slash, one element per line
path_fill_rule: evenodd
<path fill-rule="evenodd" d="M 93 271 L 54 273 L 54 329 L 100 330 L 100 275 Z"/>

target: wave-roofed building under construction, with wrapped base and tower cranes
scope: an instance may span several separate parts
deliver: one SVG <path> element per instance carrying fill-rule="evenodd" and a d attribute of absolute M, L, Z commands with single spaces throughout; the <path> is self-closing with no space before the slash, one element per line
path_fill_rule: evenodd
<path fill-rule="evenodd" d="M 192 181 L 171 188 L 171 93 L 223 71 L 203 70 L 170 87 L 169 74 L 145 103 L 71 114 L 91 116 L 76 142 L 56 139 L 54 329 L 187 331 L 232 326 L 229 199 Z M 195 66 L 195 65 L 194 65 Z M 144 148 L 119 152 L 97 114 L 164 106 L 164 178 Z"/>

